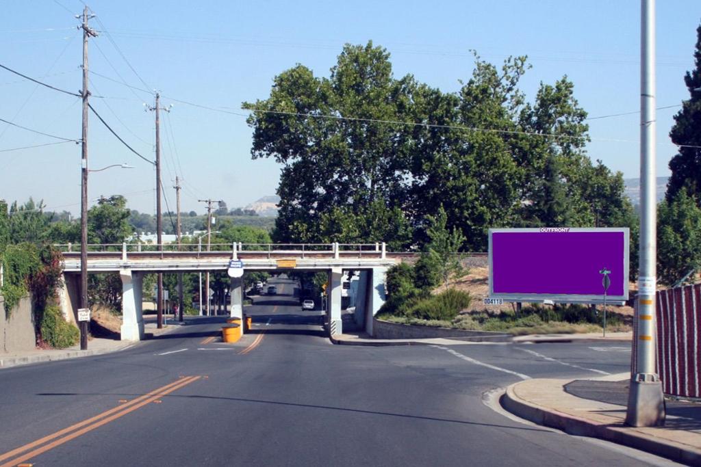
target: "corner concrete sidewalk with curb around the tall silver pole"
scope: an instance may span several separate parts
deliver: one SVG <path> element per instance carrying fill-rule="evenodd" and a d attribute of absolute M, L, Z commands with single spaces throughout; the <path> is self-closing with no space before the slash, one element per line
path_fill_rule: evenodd
<path fill-rule="evenodd" d="M 616 382 L 629 377 L 628 373 L 621 373 L 592 381 Z M 573 396 L 565 389 L 571 383 L 571 379 L 526 379 L 509 386 L 501 403 L 509 412 L 539 425 L 701 466 L 701 403 L 689 404 L 682 417 L 670 415 L 668 404 L 665 426 L 634 428 L 624 424 L 625 405 Z"/>

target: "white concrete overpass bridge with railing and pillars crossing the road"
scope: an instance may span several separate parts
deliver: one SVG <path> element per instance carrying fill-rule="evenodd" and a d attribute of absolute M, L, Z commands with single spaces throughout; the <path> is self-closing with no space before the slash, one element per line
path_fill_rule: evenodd
<path fill-rule="evenodd" d="M 80 292 L 81 251 L 74 245 L 57 245 L 64 256 L 64 314 L 76 316 Z M 217 272 L 240 260 L 243 272 L 327 272 L 327 330 L 341 333 L 341 279 L 344 271 L 360 271 L 355 316 L 361 316 L 372 335 L 372 317 L 385 300 L 385 274 L 389 267 L 413 258 L 413 253 L 386 251 L 375 244 L 215 244 L 201 245 L 100 244 L 88 245 L 88 274 L 118 272 L 122 281 L 122 340 L 144 337 L 142 313 L 144 274 L 163 272 Z M 231 278 L 231 317 L 243 318 L 243 278 Z"/>

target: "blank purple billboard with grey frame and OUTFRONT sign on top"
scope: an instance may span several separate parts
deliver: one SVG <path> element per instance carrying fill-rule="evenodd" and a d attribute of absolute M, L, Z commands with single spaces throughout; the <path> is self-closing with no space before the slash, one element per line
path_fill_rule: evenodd
<path fill-rule="evenodd" d="M 628 299 L 627 228 L 489 230 L 489 296 L 510 301 Z"/>

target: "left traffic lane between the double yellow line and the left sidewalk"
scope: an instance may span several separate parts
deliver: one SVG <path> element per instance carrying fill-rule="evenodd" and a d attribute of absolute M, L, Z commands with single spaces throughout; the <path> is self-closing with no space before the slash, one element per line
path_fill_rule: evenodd
<path fill-rule="evenodd" d="M 205 336 L 216 336 L 212 343 L 219 340 L 224 319 L 193 321 L 202 323 L 123 351 L 2 370 L 0 419 L 16 429 L 0 431 L 0 450 L 64 428 L 182 375 L 217 368 L 218 363 L 198 348 L 216 347 L 202 342 Z M 237 351 L 254 338 L 245 336 L 238 347 L 226 345 Z"/>

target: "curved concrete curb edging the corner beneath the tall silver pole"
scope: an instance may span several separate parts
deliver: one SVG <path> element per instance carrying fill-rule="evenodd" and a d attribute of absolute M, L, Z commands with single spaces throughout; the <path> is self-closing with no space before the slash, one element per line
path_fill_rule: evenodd
<path fill-rule="evenodd" d="M 653 438 L 622 425 L 601 424 L 529 403 L 515 394 L 513 388 L 517 384 L 519 383 L 508 386 L 499 402 L 502 407 L 518 417 L 538 425 L 556 428 L 570 435 L 600 438 L 662 456 L 675 462 L 701 466 L 701 451 L 699 449 Z"/>

